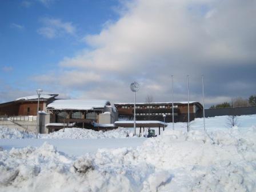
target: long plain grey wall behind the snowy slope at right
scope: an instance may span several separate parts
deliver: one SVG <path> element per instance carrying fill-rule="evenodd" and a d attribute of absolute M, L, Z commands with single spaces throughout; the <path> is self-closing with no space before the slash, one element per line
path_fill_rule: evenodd
<path fill-rule="evenodd" d="M 254 107 L 230 107 L 219 109 L 206 109 L 205 117 L 215 117 L 223 115 L 253 115 L 256 114 L 256 106 Z"/>

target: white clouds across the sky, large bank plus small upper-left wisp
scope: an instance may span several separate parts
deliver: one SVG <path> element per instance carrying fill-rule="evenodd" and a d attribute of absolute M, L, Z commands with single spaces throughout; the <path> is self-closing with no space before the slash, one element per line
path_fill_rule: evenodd
<path fill-rule="evenodd" d="M 109 23 L 99 34 L 84 38 L 90 49 L 59 62 L 59 69 L 64 73 L 73 69 L 66 84 L 56 77 L 63 87 L 80 91 L 86 98 L 89 95 L 97 98 L 104 93 L 110 97 L 106 99 L 127 101 L 132 100 L 129 85 L 137 80 L 143 86 L 138 99 L 144 101 L 146 94 L 152 94 L 155 100 L 166 101 L 171 98 L 170 75 L 173 74 L 177 88 L 175 100 L 181 100 L 186 99 L 186 75 L 189 74 L 191 92 L 194 91 L 191 99 L 199 100 L 201 74 L 205 74 L 210 87 L 214 87 L 214 83 L 224 77 L 211 74 L 223 67 L 253 69 L 255 1 L 140 0 L 124 6 L 117 22 Z M 48 19 L 47 23 L 46 27 L 61 26 L 58 29 L 65 33 L 75 31 L 71 24 L 63 27 L 58 20 Z M 56 36 L 57 33 L 49 35 Z M 83 73 L 91 75 L 84 78 Z M 225 74 L 225 78 L 229 75 Z M 93 81 L 94 77 L 97 81 Z M 241 81 L 230 75 L 229 80 L 234 79 Z M 218 84 L 217 89 L 222 91 L 225 85 L 226 82 Z M 209 95 L 213 90 L 207 91 Z M 217 99 L 206 101 L 219 102 L 229 97 L 228 93 L 219 92 Z"/>

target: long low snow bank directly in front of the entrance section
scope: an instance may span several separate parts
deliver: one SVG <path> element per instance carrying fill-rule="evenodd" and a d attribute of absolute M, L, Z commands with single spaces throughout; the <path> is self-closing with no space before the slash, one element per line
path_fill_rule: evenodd
<path fill-rule="evenodd" d="M 94 131 L 82 128 L 66 128 L 55 131 L 50 134 L 40 134 L 39 138 L 70 138 L 70 139 L 87 139 L 87 138 L 126 138 L 129 133 L 126 129 L 118 128 L 109 131 Z"/>

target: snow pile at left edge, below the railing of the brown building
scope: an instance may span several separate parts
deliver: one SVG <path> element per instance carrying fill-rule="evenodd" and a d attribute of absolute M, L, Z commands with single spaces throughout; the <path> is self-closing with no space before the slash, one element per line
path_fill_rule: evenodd
<path fill-rule="evenodd" d="M 25 131 L 19 131 L 18 129 L 9 129 L 7 127 L 0 126 L 0 139 L 22 138 L 35 138 L 35 135 L 32 133 L 26 133 Z"/>

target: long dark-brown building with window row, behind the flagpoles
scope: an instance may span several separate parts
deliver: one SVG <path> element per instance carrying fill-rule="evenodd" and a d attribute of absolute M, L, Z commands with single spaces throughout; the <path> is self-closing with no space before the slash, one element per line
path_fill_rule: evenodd
<path fill-rule="evenodd" d="M 134 103 L 114 103 L 118 110 L 118 118 L 131 120 L 134 118 Z M 199 102 L 189 102 L 190 121 L 194 118 L 202 117 L 203 106 Z M 172 122 L 171 102 L 136 103 L 136 119 L 138 121 L 164 121 Z M 187 121 L 187 102 L 174 102 L 174 122 Z"/>

